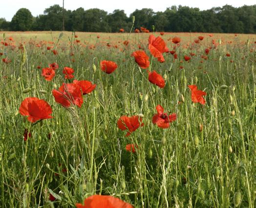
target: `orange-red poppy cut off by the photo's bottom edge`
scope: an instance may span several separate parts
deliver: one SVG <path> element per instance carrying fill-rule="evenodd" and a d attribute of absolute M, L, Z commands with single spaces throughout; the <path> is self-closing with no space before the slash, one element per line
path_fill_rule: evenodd
<path fill-rule="evenodd" d="M 84 205 L 76 203 L 76 208 L 133 208 L 133 206 L 113 196 L 93 195 L 85 199 Z"/>

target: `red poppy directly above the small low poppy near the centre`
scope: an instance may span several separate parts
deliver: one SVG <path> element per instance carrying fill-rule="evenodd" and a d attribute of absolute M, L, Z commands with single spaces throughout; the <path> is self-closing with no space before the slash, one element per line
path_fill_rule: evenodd
<path fill-rule="evenodd" d="M 131 132 L 134 132 L 140 126 L 144 126 L 144 123 L 141 123 L 141 122 L 142 122 L 142 117 L 139 117 L 138 115 L 133 115 L 131 117 L 124 115 L 118 119 L 117 126 L 122 131 L 128 130 L 126 134 L 126 136 L 128 136 L 131 134 Z"/>

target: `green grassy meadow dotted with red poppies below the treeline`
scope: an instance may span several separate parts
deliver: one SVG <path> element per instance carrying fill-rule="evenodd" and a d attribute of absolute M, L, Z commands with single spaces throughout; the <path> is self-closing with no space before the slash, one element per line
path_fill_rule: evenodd
<path fill-rule="evenodd" d="M 254 208 L 255 65 L 250 34 L 0 32 L 0 207 Z"/>

